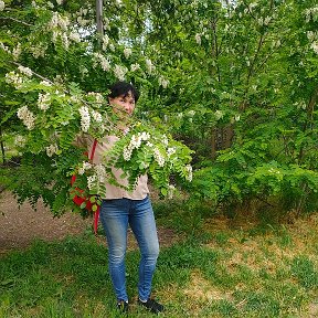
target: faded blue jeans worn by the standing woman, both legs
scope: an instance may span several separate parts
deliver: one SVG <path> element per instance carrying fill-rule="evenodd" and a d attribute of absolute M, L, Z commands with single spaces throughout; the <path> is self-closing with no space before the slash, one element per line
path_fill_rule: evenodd
<path fill-rule="evenodd" d="M 144 200 L 125 198 L 103 200 L 100 221 L 108 243 L 109 274 L 117 299 L 128 300 L 125 255 L 129 224 L 141 253 L 138 294 L 141 300 L 147 300 L 151 293 L 159 254 L 156 222 L 149 197 Z"/>

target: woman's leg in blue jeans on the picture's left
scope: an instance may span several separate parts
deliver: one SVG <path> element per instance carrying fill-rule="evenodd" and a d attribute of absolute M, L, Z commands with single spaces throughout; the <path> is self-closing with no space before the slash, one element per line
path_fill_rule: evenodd
<path fill-rule="evenodd" d="M 109 274 L 117 300 L 128 301 L 125 255 L 129 204 L 127 199 L 103 200 L 100 221 L 108 244 Z"/>

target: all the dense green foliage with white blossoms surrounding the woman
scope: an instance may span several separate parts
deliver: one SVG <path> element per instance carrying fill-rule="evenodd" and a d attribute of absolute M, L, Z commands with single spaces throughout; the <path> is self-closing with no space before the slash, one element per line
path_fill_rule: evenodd
<path fill-rule="evenodd" d="M 17 174 L 13 187 L 21 200 L 43 197 L 54 202 L 55 213 L 65 205 L 67 174 L 85 160 L 71 140 L 86 129 L 87 112 L 94 136 L 116 130 L 116 117 L 100 105 L 107 104 L 109 83 L 125 78 L 141 88 L 142 124 L 114 151 L 119 158 L 134 134 L 153 132 L 167 162 L 162 169 L 161 159 L 149 155 L 155 148 L 146 145 L 147 137 L 138 153 L 117 161 L 134 178 L 155 173 L 163 194 L 170 172 L 189 179 L 190 151 L 173 144 L 172 135 L 195 150 L 193 197 L 230 210 L 251 202 L 283 212 L 317 210 L 314 0 L 104 1 L 104 35 L 96 32 L 94 1 L 4 2 L 1 127 L 18 144 L 26 142 L 19 168 L 24 173 Z M 42 130 L 25 129 L 18 109 L 26 128 Z M 150 118 L 150 125 L 144 123 Z M 153 126 L 170 130 L 169 145 Z M 180 147 L 178 156 L 170 155 L 172 147 Z M 43 156 L 47 151 L 52 157 Z"/>

